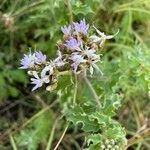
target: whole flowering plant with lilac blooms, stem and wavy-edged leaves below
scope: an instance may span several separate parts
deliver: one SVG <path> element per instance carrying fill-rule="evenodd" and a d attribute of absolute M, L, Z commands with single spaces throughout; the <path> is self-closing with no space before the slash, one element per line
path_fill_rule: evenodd
<path fill-rule="evenodd" d="M 90 133 L 86 136 L 90 150 L 122 150 L 126 145 L 125 131 L 112 117 L 120 106 L 120 97 L 112 95 L 100 102 L 87 74 L 93 75 L 94 70 L 100 72 L 97 63 L 100 62 L 99 50 L 105 40 L 115 35 L 106 36 L 93 26 L 96 34 L 90 34 L 90 26 L 85 19 L 61 27 L 63 39 L 57 43 L 57 57 L 48 60 L 41 51 L 24 55 L 21 59 L 21 69 L 27 69 L 31 76 L 32 91 L 46 85 L 46 90 L 52 91 L 57 87 L 62 72 L 71 71 L 75 76 L 82 77 L 93 94 L 95 102 L 76 102 L 77 89 L 73 104 L 67 104 L 63 114 L 68 122 L 82 124 L 82 130 Z M 76 78 L 77 79 L 77 78 Z M 91 111 L 87 111 L 90 110 Z"/>

